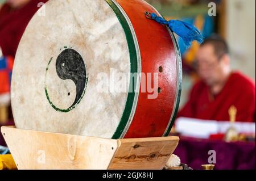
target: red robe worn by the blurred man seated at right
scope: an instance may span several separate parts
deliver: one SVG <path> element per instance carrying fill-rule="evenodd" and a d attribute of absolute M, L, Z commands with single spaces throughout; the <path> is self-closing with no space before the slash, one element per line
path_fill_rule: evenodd
<path fill-rule="evenodd" d="M 255 121 L 255 83 L 239 72 L 233 72 L 214 97 L 203 81 L 196 83 L 178 117 L 228 121 L 228 110 L 233 105 L 237 108 L 236 121 Z"/>

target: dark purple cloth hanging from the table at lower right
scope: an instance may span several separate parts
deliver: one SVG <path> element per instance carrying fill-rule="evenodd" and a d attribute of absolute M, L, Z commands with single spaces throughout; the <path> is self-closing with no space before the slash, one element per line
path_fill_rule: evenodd
<path fill-rule="evenodd" d="M 195 170 L 209 164 L 208 159 L 216 153 L 214 170 L 255 170 L 255 142 L 224 142 L 180 137 L 174 154 Z M 211 161 L 212 159 L 210 159 Z"/>

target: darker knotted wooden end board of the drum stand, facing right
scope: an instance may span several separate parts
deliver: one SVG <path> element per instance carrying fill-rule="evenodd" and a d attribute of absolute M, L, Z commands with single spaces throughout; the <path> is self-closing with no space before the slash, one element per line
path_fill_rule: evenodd
<path fill-rule="evenodd" d="M 178 142 L 179 137 L 119 140 L 108 169 L 163 169 Z"/>

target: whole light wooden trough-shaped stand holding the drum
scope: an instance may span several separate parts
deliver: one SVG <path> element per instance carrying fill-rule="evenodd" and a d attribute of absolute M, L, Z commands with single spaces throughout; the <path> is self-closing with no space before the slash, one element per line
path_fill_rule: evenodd
<path fill-rule="evenodd" d="M 18 169 L 163 169 L 179 137 L 104 139 L 2 127 Z"/>

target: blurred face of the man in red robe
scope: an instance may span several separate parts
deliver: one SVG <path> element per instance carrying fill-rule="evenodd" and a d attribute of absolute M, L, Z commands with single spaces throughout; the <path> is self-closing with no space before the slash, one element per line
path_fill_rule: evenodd
<path fill-rule="evenodd" d="M 225 55 L 226 56 L 226 55 Z M 222 82 L 229 69 L 225 56 L 218 57 L 211 44 L 205 44 L 197 52 L 197 72 L 208 86 Z"/>

